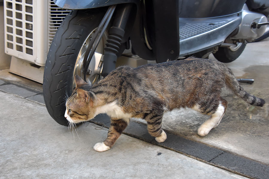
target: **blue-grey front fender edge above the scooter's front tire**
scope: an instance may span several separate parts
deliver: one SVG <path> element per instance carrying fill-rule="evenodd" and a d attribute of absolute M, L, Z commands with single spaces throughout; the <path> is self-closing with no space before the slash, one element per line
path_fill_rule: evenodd
<path fill-rule="evenodd" d="M 134 3 L 140 0 L 53 0 L 56 6 L 62 9 L 91 9 L 97 7 L 111 6 L 114 4 Z"/>

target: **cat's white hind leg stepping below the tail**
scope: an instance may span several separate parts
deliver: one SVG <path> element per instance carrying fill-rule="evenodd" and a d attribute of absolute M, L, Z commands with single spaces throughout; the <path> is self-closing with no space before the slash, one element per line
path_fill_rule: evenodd
<path fill-rule="evenodd" d="M 198 135 L 205 136 L 211 129 L 218 126 L 227 108 L 227 101 L 222 99 L 219 101 L 216 111 L 207 119 L 197 130 Z"/>

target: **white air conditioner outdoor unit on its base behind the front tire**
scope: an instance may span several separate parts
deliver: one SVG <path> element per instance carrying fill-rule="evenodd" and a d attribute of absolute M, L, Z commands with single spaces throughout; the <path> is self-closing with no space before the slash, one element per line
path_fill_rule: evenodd
<path fill-rule="evenodd" d="M 11 55 L 10 72 L 43 82 L 52 39 L 70 10 L 52 0 L 4 0 L 5 53 Z"/>

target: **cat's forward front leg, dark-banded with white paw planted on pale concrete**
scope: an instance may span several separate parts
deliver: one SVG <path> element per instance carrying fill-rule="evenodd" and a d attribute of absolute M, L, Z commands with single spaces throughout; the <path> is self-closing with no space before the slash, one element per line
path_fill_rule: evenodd
<path fill-rule="evenodd" d="M 104 152 L 110 149 L 115 141 L 120 137 L 123 130 L 127 127 L 130 119 L 115 119 L 111 118 L 110 127 L 108 130 L 107 138 L 103 142 L 96 143 L 94 145 L 94 150 L 97 152 Z"/>

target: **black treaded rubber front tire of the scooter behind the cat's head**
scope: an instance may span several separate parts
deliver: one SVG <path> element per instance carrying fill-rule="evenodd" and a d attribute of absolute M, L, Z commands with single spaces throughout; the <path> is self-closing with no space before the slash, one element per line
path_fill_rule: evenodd
<path fill-rule="evenodd" d="M 63 126 L 68 126 L 64 117 L 65 102 L 73 90 L 76 59 L 89 33 L 98 27 L 104 14 L 102 9 L 71 11 L 51 43 L 44 70 L 44 100 L 51 117 Z"/>

